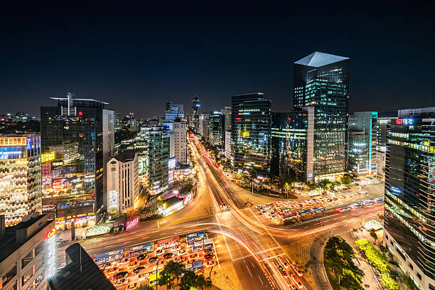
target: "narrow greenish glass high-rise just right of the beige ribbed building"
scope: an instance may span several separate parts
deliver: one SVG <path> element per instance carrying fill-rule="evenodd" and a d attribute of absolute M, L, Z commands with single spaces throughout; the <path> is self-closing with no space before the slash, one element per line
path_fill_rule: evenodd
<path fill-rule="evenodd" d="M 151 195 L 156 195 L 168 188 L 170 136 L 162 127 L 153 127 L 149 131 L 148 144 L 148 189 Z"/>

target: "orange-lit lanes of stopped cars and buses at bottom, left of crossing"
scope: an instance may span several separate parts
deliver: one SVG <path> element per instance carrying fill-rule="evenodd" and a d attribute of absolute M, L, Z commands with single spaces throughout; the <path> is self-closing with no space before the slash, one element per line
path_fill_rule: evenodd
<path fill-rule="evenodd" d="M 131 290 L 141 284 L 154 286 L 169 261 L 181 262 L 186 270 L 200 273 L 216 263 L 215 255 L 213 239 L 206 232 L 194 232 L 100 254 L 95 263 L 117 289 Z"/>

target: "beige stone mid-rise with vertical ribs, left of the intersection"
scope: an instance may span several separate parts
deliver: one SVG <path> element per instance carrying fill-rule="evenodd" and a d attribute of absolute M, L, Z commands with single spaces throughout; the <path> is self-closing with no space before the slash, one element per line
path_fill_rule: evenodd
<path fill-rule="evenodd" d="M 123 211 L 134 207 L 139 196 L 139 159 L 134 151 L 118 154 L 107 165 L 108 210 Z"/>

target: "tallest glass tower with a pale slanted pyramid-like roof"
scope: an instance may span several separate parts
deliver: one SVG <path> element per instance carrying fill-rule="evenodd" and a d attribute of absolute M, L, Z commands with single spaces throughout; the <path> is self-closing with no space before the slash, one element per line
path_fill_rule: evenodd
<path fill-rule="evenodd" d="M 314 107 L 314 178 L 345 171 L 348 101 L 349 58 L 316 52 L 294 63 L 294 108 Z"/>

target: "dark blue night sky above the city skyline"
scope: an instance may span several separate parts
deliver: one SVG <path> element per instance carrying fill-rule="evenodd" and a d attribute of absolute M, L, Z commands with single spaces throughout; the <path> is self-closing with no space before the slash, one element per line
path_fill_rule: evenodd
<path fill-rule="evenodd" d="M 38 116 L 68 91 L 146 118 L 195 94 L 205 112 L 246 92 L 285 111 L 314 51 L 351 59 L 350 112 L 435 106 L 434 4 L 351 2 L 1 7 L 0 113 Z"/>

